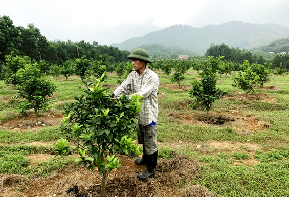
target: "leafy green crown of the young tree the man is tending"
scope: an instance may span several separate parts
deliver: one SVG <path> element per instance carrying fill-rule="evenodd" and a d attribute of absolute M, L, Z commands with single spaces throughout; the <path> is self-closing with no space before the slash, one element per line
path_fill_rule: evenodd
<path fill-rule="evenodd" d="M 122 95 L 114 99 L 114 94 L 103 88 L 103 77 L 104 74 L 96 79 L 93 87 L 87 83 L 86 94 L 78 95 L 76 102 L 66 108 L 62 121 L 63 130 L 78 147 L 78 165 L 83 164 L 88 170 L 98 167 L 99 173 L 106 178 L 111 167 L 118 166 L 118 159 L 110 166 L 103 157 L 108 152 L 113 154 L 115 139 L 120 142 L 123 136 L 130 136 L 135 131 L 135 119 L 142 103 L 139 95 L 132 98 Z"/>

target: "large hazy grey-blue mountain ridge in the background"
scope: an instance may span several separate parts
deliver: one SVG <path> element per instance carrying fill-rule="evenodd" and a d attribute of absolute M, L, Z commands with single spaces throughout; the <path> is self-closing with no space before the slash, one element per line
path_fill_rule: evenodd
<path fill-rule="evenodd" d="M 202 28 L 173 25 L 112 46 L 130 51 L 142 45 L 158 44 L 179 47 L 203 55 L 211 43 L 217 45 L 226 43 L 229 47 L 251 49 L 269 45 L 270 42 L 282 38 L 289 38 L 289 27 L 231 21 Z"/>

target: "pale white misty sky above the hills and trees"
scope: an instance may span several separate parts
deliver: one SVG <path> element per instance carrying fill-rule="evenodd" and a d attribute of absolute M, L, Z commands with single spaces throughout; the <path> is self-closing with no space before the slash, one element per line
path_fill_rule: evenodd
<path fill-rule="evenodd" d="M 0 16 L 29 23 L 49 41 L 121 43 L 175 24 L 202 27 L 228 21 L 289 27 L 288 0 L 0 0 Z"/>

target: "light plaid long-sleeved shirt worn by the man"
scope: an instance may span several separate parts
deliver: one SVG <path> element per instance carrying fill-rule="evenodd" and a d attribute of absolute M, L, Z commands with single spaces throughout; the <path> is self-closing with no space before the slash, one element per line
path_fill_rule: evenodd
<path fill-rule="evenodd" d="M 143 96 L 141 102 L 144 104 L 141 105 L 142 111 L 138 114 L 138 123 L 146 126 L 151 124 L 152 121 L 157 122 L 159 112 L 158 86 L 158 75 L 146 66 L 142 76 L 139 76 L 138 71 L 132 71 L 127 79 L 114 91 L 114 94 L 116 97 L 129 93 Z"/>

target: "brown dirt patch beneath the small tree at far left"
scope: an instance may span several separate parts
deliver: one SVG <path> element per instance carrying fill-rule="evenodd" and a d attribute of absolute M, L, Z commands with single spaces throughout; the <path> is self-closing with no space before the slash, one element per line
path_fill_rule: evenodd
<path fill-rule="evenodd" d="M 61 124 L 61 119 L 63 118 L 61 112 L 52 110 L 42 112 L 38 115 L 38 123 L 41 122 L 40 124 L 36 124 L 35 113 L 32 111 L 26 112 L 25 114 L 15 113 L 14 116 L 15 118 L 9 119 L 0 124 L 2 129 L 39 129 L 42 128 L 43 124 L 45 124 L 45 126 L 56 126 Z"/>

